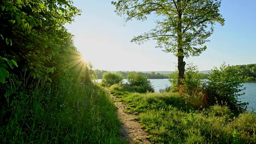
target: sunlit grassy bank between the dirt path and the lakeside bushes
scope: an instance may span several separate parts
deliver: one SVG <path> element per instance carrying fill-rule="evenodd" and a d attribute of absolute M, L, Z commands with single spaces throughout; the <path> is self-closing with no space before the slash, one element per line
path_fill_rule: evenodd
<path fill-rule="evenodd" d="M 129 112 L 140 113 L 138 120 L 156 144 L 256 143 L 254 114 L 236 115 L 217 105 L 194 108 L 191 98 L 173 92 L 140 94 L 118 85 L 110 92 L 129 104 Z"/>

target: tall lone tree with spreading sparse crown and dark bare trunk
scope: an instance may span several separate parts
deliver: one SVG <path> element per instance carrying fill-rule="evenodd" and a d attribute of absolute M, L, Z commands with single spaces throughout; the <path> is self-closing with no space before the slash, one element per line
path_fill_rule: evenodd
<path fill-rule="evenodd" d="M 178 82 L 184 78 L 184 57 L 199 56 L 206 46 L 205 42 L 214 32 L 213 25 L 224 25 L 219 13 L 221 0 L 118 0 L 112 2 L 119 16 L 126 16 L 125 22 L 132 19 L 147 20 L 154 13 L 156 27 L 142 35 L 135 36 L 131 42 L 142 44 L 153 39 L 156 48 L 172 52 L 178 57 Z"/>

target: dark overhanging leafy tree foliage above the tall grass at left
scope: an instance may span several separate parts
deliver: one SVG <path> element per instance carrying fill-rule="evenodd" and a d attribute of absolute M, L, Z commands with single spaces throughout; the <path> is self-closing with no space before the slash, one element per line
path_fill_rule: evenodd
<path fill-rule="evenodd" d="M 2 0 L 0 34 L 7 45 L 1 44 L 0 56 L 19 65 L 8 72 L 20 74 L 29 70 L 32 77 L 51 81 L 49 72 L 58 67 L 52 60 L 60 58 L 64 49 L 76 51 L 71 46 L 72 35 L 63 25 L 71 23 L 80 12 L 71 0 Z"/>

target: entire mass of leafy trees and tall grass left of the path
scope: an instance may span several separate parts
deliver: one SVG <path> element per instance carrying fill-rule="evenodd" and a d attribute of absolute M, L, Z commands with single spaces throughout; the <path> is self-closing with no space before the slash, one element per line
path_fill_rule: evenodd
<path fill-rule="evenodd" d="M 72 4 L 0 1 L 1 144 L 122 143 L 116 107 L 64 27 L 80 15 Z"/>

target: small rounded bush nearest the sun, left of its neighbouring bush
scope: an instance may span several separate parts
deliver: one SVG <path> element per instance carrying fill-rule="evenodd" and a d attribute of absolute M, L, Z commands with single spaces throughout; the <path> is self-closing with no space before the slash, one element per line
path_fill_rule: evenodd
<path fill-rule="evenodd" d="M 118 84 L 122 82 L 123 75 L 114 72 L 105 72 L 102 76 L 102 82 L 106 85 L 112 86 L 113 84 Z"/>

